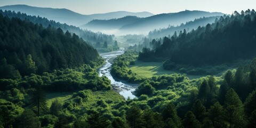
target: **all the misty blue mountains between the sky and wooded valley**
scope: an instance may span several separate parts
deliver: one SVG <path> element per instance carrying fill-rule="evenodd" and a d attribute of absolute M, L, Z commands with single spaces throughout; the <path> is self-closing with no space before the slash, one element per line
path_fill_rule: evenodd
<path fill-rule="evenodd" d="M 49 20 L 67 23 L 83 29 L 102 31 L 106 34 L 148 34 L 149 31 L 168 26 L 178 26 L 181 23 L 194 21 L 203 17 L 215 17 L 224 15 L 220 12 L 205 11 L 181 11 L 177 13 L 163 13 L 154 15 L 149 12 L 110 12 L 102 14 L 83 15 L 67 9 L 52 9 L 46 7 L 34 7 L 28 5 L 7 5 L 0 7 L 1 10 L 11 10 L 39 15 Z M 205 24 L 205 23 L 204 23 Z"/>

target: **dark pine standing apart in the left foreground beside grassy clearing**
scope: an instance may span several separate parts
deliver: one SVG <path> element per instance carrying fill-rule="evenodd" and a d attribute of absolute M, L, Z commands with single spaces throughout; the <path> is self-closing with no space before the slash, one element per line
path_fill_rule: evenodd
<path fill-rule="evenodd" d="M 36 91 L 34 92 L 33 97 L 31 99 L 30 106 L 32 108 L 34 107 L 37 108 L 37 116 L 39 116 L 40 112 L 42 113 L 47 112 L 48 108 L 47 108 L 46 98 L 40 86 L 37 86 Z"/>

